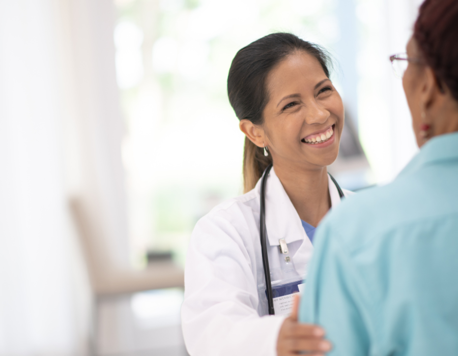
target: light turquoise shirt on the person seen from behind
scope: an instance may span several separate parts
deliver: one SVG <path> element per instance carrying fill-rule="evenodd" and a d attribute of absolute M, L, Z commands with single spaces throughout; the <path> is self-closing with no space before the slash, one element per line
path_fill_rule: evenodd
<path fill-rule="evenodd" d="M 458 355 L 458 133 L 317 228 L 299 318 L 329 355 Z"/>

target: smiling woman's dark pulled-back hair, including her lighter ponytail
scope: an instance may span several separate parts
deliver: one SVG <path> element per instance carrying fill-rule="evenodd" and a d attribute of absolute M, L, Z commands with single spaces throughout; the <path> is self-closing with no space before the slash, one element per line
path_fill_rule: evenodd
<path fill-rule="evenodd" d="M 311 54 L 329 78 L 329 55 L 316 44 L 288 33 L 267 35 L 239 50 L 227 77 L 227 95 L 239 120 L 247 119 L 263 125 L 263 111 L 269 102 L 266 79 L 272 69 L 287 56 L 298 52 Z M 272 156 L 264 156 L 262 147 L 245 137 L 243 153 L 243 190 L 254 188 Z"/>

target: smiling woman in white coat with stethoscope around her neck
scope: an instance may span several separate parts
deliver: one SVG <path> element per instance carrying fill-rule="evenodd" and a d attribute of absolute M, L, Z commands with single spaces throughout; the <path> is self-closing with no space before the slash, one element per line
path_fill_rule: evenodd
<path fill-rule="evenodd" d="M 181 313 L 191 356 L 329 349 L 323 330 L 297 323 L 296 313 L 288 317 L 307 275 L 314 229 L 349 193 L 326 170 L 344 126 L 328 62 L 322 49 L 285 33 L 251 43 L 232 62 L 227 92 L 246 135 L 246 193 L 216 206 L 192 233 Z"/>

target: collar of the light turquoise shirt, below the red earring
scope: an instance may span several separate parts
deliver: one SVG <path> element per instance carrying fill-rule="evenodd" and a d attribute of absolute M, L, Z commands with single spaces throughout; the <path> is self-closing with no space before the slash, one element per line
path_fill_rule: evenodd
<path fill-rule="evenodd" d="M 449 160 L 458 160 L 458 132 L 430 139 L 399 173 L 399 176 L 414 173 L 427 164 Z"/>

